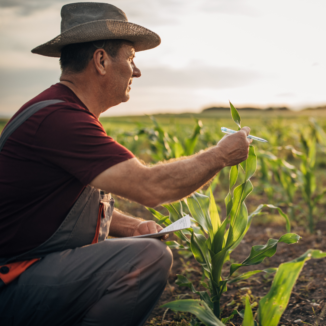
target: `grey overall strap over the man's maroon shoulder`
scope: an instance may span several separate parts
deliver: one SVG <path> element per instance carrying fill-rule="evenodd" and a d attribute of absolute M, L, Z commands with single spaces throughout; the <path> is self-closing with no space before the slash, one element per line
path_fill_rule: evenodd
<path fill-rule="evenodd" d="M 10 137 L 10 135 L 19 127 L 21 126 L 29 117 L 31 117 L 34 113 L 36 113 L 38 110 L 41 110 L 45 108 L 48 105 L 56 104 L 65 102 L 62 100 L 46 100 L 41 101 L 32 104 L 27 109 L 22 111 L 20 114 L 17 115 L 16 118 L 12 119 L 11 122 L 5 127 L 5 129 L 2 131 L 0 136 L 0 152 L 2 150 L 2 147 L 4 146 L 7 139 Z"/>

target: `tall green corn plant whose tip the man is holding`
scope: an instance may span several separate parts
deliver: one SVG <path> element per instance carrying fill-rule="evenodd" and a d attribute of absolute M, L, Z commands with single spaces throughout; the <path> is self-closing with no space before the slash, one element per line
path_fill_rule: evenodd
<path fill-rule="evenodd" d="M 232 104 L 230 104 L 230 107 L 232 118 L 240 128 L 241 119 L 239 113 Z M 244 171 L 244 182 L 234 188 L 233 196 L 231 192 L 238 179 L 239 166 L 236 165 L 230 169 L 229 193 L 225 198 L 226 218 L 224 221 L 222 222 L 220 220 L 212 190 L 210 190 L 210 197 L 196 192 L 184 200 L 184 204 L 187 206 L 194 221 L 199 225 L 199 228 L 197 228 L 199 232 L 196 233 L 195 228 L 175 232 L 181 240 L 185 241 L 185 245 L 191 249 L 195 259 L 203 267 L 207 279 L 206 282 L 202 282 L 202 285 L 206 287 L 208 291 L 197 291 L 185 276 L 178 275 L 176 283 L 179 286 L 187 286 L 194 293 L 199 294 L 201 302 L 198 305 L 194 304 L 192 301 L 179 300 L 178 302 L 168 303 L 165 306 L 176 309 L 176 304 L 180 304 L 180 309 L 176 310 L 183 311 L 182 309 L 188 309 L 186 311 L 190 311 L 197 315 L 206 325 L 211 325 L 212 320 L 215 320 L 215 322 L 219 320 L 217 324 L 220 325 L 221 322 L 227 322 L 234 314 L 241 315 L 241 312 L 235 309 L 228 318 L 220 320 L 220 298 L 222 293 L 227 290 L 227 283 L 232 282 L 231 276 L 237 269 L 242 266 L 259 264 L 265 257 L 272 257 L 276 252 L 276 247 L 279 242 L 292 244 L 296 243 L 301 238 L 295 233 L 287 233 L 278 240 L 269 239 L 265 245 L 253 246 L 250 255 L 241 264 L 231 264 L 229 275 L 225 279 L 222 279 L 223 264 L 229 260 L 230 253 L 234 248 L 240 244 L 250 227 L 253 216 L 259 214 L 263 207 L 268 206 L 277 209 L 280 214 L 286 218 L 287 229 L 290 230 L 289 219 L 279 207 L 273 205 L 259 205 L 259 207 L 248 216 L 244 200 L 253 189 L 249 179 L 255 173 L 257 167 L 257 158 L 252 145 L 249 147 L 247 160 L 240 163 L 240 167 Z M 157 217 L 157 223 L 169 225 L 171 222 L 184 216 L 183 204 L 180 201 L 164 204 L 163 206 L 168 209 L 169 216 L 163 216 L 154 209 L 149 209 L 153 215 Z M 229 225 L 228 229 L 227 225 Z M 187 235 L 190 236 L 190 239 Z M 169 244 L 173 245 L 172 242 Z M 273 271 L 275 270 L 265 270 L 265 272 L 268 273 Z M 240 278 L 245 279 L 259 272 L 261 271 L 244 273 L 240 275 Z M 212 316 L 214 316 L 214 318 Z"/>

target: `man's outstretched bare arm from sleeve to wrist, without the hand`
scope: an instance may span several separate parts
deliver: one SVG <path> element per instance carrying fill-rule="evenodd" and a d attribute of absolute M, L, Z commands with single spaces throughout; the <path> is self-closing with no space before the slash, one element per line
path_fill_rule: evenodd
<path fill-rule="evenodd" d="M 219 164 L 217 164 L 219 163 Z M 119 165 L 125 165 L 119 173 Z M 216 148 L 193 157 L 152 167 L 142 165 L 136 158 L 122 162 L 103 172 L 102 180 L 110 180 L 116 195 L 155 207 L 188 196 L 205 184 L 224 167 Z M 104 185 L 101 185 L 103 189 Z"/>

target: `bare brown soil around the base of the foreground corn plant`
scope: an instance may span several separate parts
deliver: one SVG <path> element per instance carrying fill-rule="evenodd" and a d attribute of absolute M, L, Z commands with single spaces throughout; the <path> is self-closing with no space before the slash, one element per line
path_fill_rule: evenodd
<path fill-rule="evenodd" d="M 295 229 L 293 232 L 302 236 L 299 243 L 285 244 L 279 243 L 277 246 L 276 254 L 271 258 L 265 258 L 265 260 L 254 266 L 242 267 L 239 269 L 239 274 L 242 274 L 249 270 L 264 269 L 267 267 L 278 267 L 282 262 L 292 260 L 299 257 L 307 249 L 320 249 L 326 251 L 326 222 L 319 222 L 316 226 L 316 234 L 309 234 L 302 229 Z M 242 243 L 232 252 L 232 263 L 242 262 L 248 257 L 251 247 L 256 244 L 266 244 L 269 238 L 278 239 L 282 234 L 286 233 L 284 226 L 269 225 L 253 225 L 248 230 L 248 233 L 244 237 Z M 172 236 L 173 239 L 173 236 Z M 171 240 L 171 239 L 170 239 Z M 200 264 L 194 259 L 185 258 L 178 253 L 177 249 L 173 249 L 174 262 L 169 276 L 168 284 L 158 302 L 152 314 L 145 323 L 149 325 L 188 325 L 190 320 L 190 314 L 174 313 L 171 310 L 166 311 L 165 308 L 160 306 L 169 301 L 176 299 L 198 299 L 198 295 L 193 294 L 189 288 L 179 288 L 174 283 L 177 279 L 176 274 L 183 274 L 189 280 L 193 281 L 195 288 L 203 291 L 205 290 L 200 284 L 202 277 L 202 271 Z M 228 275 L 230 268 L 230 262 L 226 263 L 223 269 L 223 276 Z M 299 320 L 306 323 L 316 325 L 326 325 L 326 258 L 324 259 L 311 259 L 308 260 L 298 278 L 296 285 L 293 288 L 289 305 L 285 310 L 279 325 L 304 325 Z M 250 279 L 231 284 L 228 286 L 228 291 L 222 295 L 221 306 L 223 308 L 222 317 L 228 317 L 234 308 L 240 311 L 244 308 L 244 298 L 248 293 L 253 305 L 257 303 L 253 308 L 254 314 L 257 312 L 258 302 L 269 290 L 274 274 L 259 273 L 251 277 Z M 313 312 L 313 309 L 315 313 Z M 164 319 L 162 317 L 164 312 Z M 239 316 L 234 316 L 230 320 L 233 325 L 241 325 L 242 319 Z M 231 325 L 229 323 L 229 325 Z"/>

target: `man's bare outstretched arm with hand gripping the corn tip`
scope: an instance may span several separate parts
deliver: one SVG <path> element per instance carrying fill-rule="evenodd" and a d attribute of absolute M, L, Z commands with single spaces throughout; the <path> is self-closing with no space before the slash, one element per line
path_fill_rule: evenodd
<path fill-rule="evenodd" d="M 248 157 L 250 128 L 224 136 L 216 146 L 187 159 L 142 165 L 137 158 L 113 165 L 100 173 L 91 185 L 116 195 L 155 207 L 190 195 L 225 166 Z"/>

